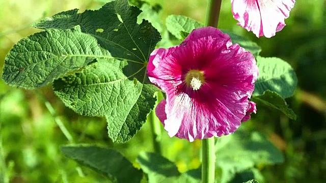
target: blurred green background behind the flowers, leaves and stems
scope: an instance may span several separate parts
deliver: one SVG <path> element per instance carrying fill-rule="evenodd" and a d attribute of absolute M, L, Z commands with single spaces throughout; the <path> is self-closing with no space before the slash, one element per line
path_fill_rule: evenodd
<path fill-rule="evenodd" d="M 39 29 L 29 25 L 43 17 L 74 8 L 98 9 L 105 1 L 0 0 L 0 67 L 20 39 Z M 162 7 L 161 18 L 186 15 L 204 21 L 207 1 L 148 0 Z M 265 132 L 285 156 L 285 163 L 258 167 L 267 182 L 324 182 L 326 180 L 326 11 L 324 0 L 297 1 L 283 31 L 256 38 L 236 25 L 229 0 L 222 3 L 219 27 L 249 37 L 262 47 L 262 56 L 280 57 L 294 68 L 298 88 L 287 102 L 298 115 L 289 120 L 260 106 L 245 128 Z M 2 71 L 0 71 L 1 74 Z M 50 105 L 49 105 L 50 104 Z M 53 109 L 51 108 L 53 107 Z M 107 138 L 105 119 L 78 116 L 52 93 L 51 86 L 24 90 L 0 80 L 0 177 L 10 182 L 102 182 L 101 175 L 63 157 L 59 146 L 97 143 L 117 148 L 130 161 L 141 150 L 153 151 L 149 124 L 126 144 Z M 179 170 L 200 166 L 200 141 L 162 136 L 163 155 Z M 217 158 L 218 159 L 218 158 Z M 0 178 L 0 182 L 1 182 Z"/>

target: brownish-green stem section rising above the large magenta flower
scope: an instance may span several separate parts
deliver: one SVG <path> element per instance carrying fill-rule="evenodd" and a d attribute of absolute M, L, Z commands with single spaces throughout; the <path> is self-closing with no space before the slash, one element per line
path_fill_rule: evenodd
<path fill-rule="evenodd" d="M 218 27 L 222 0 L 208 0 L 205 26 Z"/>

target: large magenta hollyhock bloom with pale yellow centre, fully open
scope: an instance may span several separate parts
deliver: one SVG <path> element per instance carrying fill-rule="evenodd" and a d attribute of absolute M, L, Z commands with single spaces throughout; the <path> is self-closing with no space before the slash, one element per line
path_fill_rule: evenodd
<path fill-rule="evenodd" d="M 189 141 L 233 133 L 251 111 L 254 56 L 214 27 L 195 29 L 178 46 L 155 49 L 147 66 L 166 92 L 156 115 L 170 137 Z"/>

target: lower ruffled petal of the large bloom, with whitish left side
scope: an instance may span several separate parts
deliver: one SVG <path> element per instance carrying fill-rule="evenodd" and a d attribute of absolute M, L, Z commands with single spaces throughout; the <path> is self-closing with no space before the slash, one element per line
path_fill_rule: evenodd
<path fill-rule="evenodd" d="M 220 137 L 233 133 L 240 126 L 240 119 L 219 100 L 202 96 L 191 98 L 186 93 L 167 93 L 167 119 L 164 121 L 168 134 L 195 139 Z"/>

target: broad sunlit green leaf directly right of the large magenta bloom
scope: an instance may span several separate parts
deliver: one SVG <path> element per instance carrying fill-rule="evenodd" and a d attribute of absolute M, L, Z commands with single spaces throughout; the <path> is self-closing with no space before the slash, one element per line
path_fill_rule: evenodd
<path fill-rule="evenodd" d="M 297 85 L 297 78 L 292 67 L 276 57 L 257 57 L 259 75 L 255 82 L 253 96 L 263 95 L 265 90 L 278 93 L 282 98 L 293 95 Z"/>

